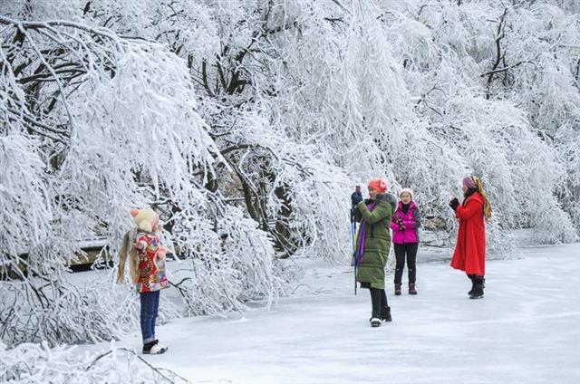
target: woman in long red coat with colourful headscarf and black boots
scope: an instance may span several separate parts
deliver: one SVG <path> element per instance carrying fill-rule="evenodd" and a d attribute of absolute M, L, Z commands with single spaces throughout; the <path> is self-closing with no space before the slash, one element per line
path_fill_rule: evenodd
<path fill-rule="evenodd" d="M 475 176 L 463 179 L 463 203 L 454 197 L 449 206 L 459 219 L 459 232 L 451 266 L 465 271 L 471 280 L 470 299 L 483 297 L 486 274 L 485 220 L 491 216 L 491 206 L 481 180 Z M 485 220 L 484 220 L 485 219 Z"/>

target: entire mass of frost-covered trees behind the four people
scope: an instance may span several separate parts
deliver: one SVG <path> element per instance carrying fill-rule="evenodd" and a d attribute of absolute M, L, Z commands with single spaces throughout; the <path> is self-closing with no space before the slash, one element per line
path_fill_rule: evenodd
<path fill-rule="evenodd" d="M 129 328 L 134 308 L 111 308 L 127 287 L 102 304 L 63 265 L 95 236 L 114 254 L 132 206 L 155 206 L 188 258 L 172 283 L 189 314 L 275 302 L 276 258 L 301 248 L 348 261 L 349 195 L 376 176 L 412 187 L 447 244 L 449 199 L 469 173 L 494 206 L 494 252 L 521 226 L 577 238 L 574 1 L 0 5 L 0 267 L 12 279 L 0 331 L 12 343 Z M 83 334 L 87 316 L 104 325 Z"/>

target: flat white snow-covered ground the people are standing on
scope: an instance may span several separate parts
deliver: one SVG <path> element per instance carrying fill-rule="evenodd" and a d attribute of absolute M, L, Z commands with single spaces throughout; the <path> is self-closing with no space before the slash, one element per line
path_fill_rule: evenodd
<path fill-rule="evenodd" d="M 393 296 L 388 275 L 381 328 L 351 268 L 301 259 L 306 276 L 275 309 L 161 326 L 169 351 L 146 360 L 206 383 L 579 383 L 580 245 L 522 253 L 488 261 L 482 300 L 447 262 L 419 264 L 417 296 Z M 139 350 L 139 331 L 116 345 Z"/>

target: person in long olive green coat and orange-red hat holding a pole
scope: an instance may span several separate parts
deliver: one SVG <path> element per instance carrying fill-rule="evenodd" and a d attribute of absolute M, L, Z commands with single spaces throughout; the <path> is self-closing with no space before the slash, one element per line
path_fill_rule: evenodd
<path fill-rule="evenodd" d="M 371 198 L 357 205 L 362 224 L 355 253 L 356 281 L 371 292 L 372 327 L 392 320 L 384 291 L 384 267 L 391 249 L 391 216 L 397 199 L 388 194 L 387 189 L 384 178 L 373 178 L 369 182 Z"/>

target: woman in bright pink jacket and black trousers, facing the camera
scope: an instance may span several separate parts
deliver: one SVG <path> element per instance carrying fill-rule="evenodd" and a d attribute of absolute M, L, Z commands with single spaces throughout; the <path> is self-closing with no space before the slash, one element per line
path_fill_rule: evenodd
<path fill-rule="evenodd" d="M 401 294 L 402 270 L 409 270 L 409 294 L 417 294 L 417 250 L 419 249 L 420 212 L 413 201 L 410 188 L 401 189 L 401 201 L 391 219 L 392 243 L 395 249 L 397 264 L 395 267 L 395 295 Z"/>

